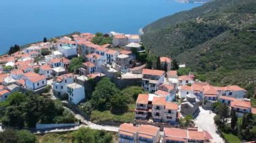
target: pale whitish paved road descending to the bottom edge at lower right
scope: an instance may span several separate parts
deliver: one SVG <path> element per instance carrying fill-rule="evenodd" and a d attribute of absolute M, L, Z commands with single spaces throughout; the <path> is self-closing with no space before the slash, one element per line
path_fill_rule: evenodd
<path fill-rule="evenodd" d="M 210 110 L 205 110 L 202 107 L 199 107 L 199 115 L 195 119 L 195 125 L 199 130 L 205 130 L 210 133 L 213 140 L 212 142 L 224 143 L 224 140 L 220 137 L 216 125 L 214 124 L 215 113 L 210 113 Z"/>

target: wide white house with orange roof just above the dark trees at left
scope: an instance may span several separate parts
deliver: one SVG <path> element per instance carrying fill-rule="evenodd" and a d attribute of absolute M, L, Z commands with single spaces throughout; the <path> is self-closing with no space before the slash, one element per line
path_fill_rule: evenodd
<path fill-rule="evenodd" d="M 36 77 L 28 77 L 25 80 L 26 89 L 36 90 L 47 85 L 46 77 L 44 75 L 39 75 Z"/>

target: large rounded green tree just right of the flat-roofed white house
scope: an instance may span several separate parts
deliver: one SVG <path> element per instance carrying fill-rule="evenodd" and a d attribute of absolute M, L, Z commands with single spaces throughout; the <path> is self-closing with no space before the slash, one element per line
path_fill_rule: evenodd
<path fill-rule="evenodd" d="M 92 93 L 92 105 L 100 110 L 110 109 L 110 98 L 119 93 L 115 83 L 104 77 L 97 83 L 95 91 Z"/>

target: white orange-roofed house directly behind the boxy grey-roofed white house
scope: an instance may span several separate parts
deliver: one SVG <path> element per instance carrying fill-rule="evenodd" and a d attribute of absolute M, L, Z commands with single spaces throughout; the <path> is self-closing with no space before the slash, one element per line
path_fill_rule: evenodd
<path fill-rule="evenodd" d="M 53 79 L 53 93 L 55 95 L 64 95 L 67 92 L 67 85 L 73 83 L 73 74 L 60 75 Z"/>

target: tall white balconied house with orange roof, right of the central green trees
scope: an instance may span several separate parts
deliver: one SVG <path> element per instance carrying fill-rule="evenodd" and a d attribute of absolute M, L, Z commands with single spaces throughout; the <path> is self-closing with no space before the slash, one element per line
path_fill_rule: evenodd
<path fill-rule="evenodd" d="M 163 70 L 142 70 L 142 87 L 149 93 L 154 93 L 158 90 L 158 85 L 164 83 Z"/>

